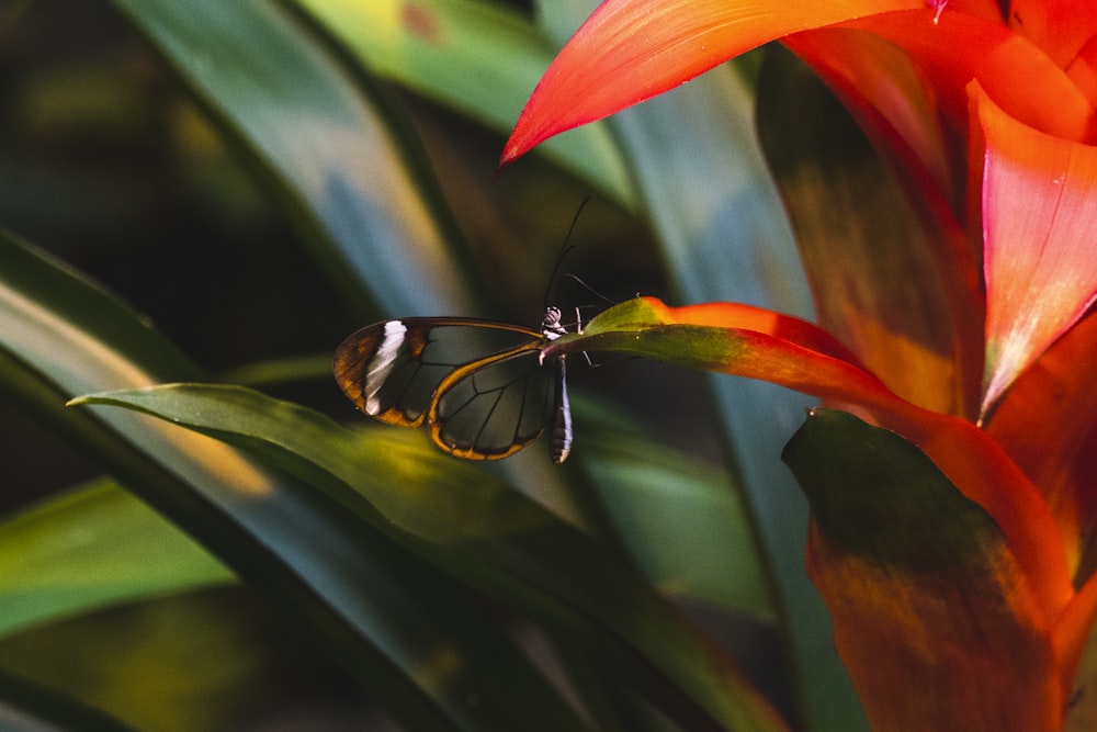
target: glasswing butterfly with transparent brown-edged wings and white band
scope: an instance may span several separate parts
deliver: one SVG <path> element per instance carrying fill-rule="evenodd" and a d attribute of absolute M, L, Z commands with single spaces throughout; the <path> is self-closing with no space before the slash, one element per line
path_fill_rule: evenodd
<path fill-rule="evenodd" d="M 564 357 L 541 349 L 567 333 L 558 307 L 540 329 L 456 317 L 366 326 L 336 349 L 336 382 L 374 419 L 430 428 L 442 450 L 468 460 L 514 454 L 552 425 L 554 463 L 572 450 Z"/>

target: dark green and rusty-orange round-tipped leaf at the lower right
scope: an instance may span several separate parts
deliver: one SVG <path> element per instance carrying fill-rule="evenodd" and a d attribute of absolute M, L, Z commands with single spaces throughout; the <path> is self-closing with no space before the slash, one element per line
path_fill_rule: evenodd
<path fill-rule="evenodd" d="M 842 412 L 812 412 L 783 458 L 873 729 L 1061 729 L 1052 619 L 982 507 L 917 447 Z"/>

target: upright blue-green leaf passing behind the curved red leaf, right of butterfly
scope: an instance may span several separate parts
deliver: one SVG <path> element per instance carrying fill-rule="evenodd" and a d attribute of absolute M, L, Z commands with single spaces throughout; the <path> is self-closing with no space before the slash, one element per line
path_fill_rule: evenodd
<path fill-rule="evenodd" d="M 562 43 L 593 10 L 588 0 L 541 2 Z M 687 302 L 736 300 L 807 315 L 810 291 L 784 211 L 753 132 L 753 101 L 728 68 L 608 122 L 633 161 L 669 275 Z M 807 402 L 770 384 L 715 379 L 720 417 L 761 551 L 773 567 L 802 713 L 818 729 L 863 729 L 852 687 L 829 650 L 826 609 L 803 572 L 806 507 L 778 460 Z M 852 711 L 850 711 L 852 710 Z"/>

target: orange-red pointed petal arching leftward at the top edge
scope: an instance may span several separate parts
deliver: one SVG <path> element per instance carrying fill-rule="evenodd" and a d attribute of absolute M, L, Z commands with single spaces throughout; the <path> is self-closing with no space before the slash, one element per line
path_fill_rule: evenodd
<path fill-rule="evenodd" d="M 545 71 L 500 165 L 768 41 L 900 9 L 931 15 L 924 0 L 607 0 Z"/>

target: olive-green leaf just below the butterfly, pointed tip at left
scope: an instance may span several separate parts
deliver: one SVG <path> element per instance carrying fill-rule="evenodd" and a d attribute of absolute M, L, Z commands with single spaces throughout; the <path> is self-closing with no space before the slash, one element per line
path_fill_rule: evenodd
<path fill-rule="evenodd" d="M 782 728 L 615 553 L 472 466 L 396 437 L 407 432 L 363 440 L 314 412 L 231 386 L 166 385 L 79 402 L 139 409 L 255 450 L 448 572 L 580 629 L 588 651 L 597 647 L 603 664 L 693 729 Z"/>

